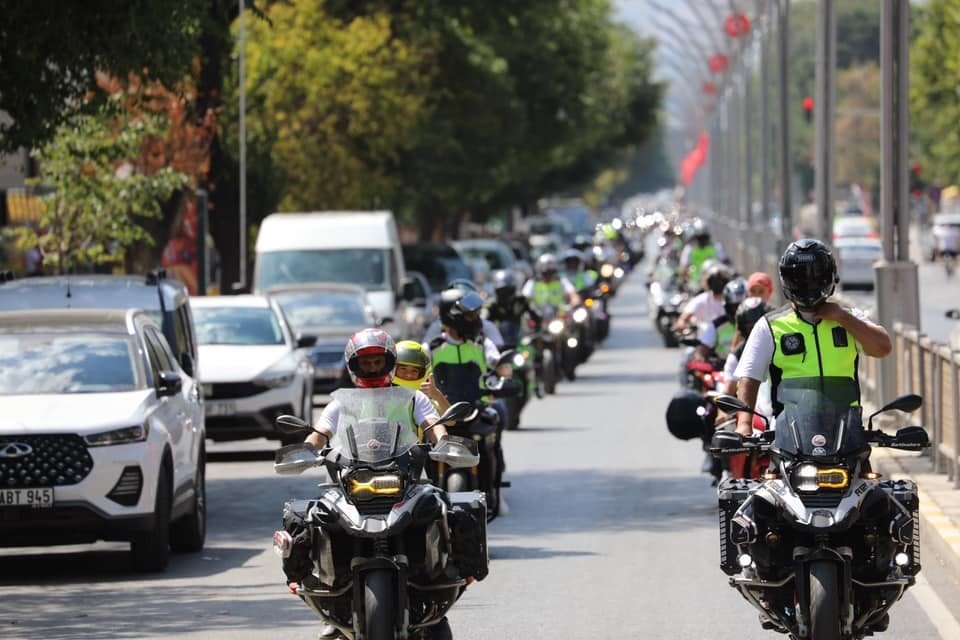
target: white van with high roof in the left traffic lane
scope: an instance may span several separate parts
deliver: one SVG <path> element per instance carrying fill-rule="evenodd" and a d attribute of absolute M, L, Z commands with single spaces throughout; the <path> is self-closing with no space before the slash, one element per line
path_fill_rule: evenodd
<path fill-rule="evenodd" d="M 338 282 L 362 286 L 377 317 L 403 318 L 407 282 L 389 211 L 274 213 L 257 234 L 253 290 Z M 399 337 L 407 335 L 398 327 Z M 398 338 L 399 338 L 398 337 Z"/>

